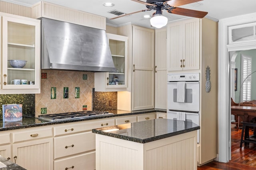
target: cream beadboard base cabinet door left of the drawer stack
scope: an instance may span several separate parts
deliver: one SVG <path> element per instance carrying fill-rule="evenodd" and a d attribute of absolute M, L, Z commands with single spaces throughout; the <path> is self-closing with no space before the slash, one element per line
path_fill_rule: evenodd
<path fill-rule="evenodd" d="M 40 139 L 12 145 L 13 162 L 28 170 L 53 169 L 53 140 Z"/>

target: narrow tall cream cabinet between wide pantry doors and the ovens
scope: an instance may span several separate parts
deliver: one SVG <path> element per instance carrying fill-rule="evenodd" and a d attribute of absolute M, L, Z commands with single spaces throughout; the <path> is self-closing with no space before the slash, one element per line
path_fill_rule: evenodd
<path fill-rule="evenodd" d="M 155 31 L 155 109 L 167 108 L 166 28 Z"/>

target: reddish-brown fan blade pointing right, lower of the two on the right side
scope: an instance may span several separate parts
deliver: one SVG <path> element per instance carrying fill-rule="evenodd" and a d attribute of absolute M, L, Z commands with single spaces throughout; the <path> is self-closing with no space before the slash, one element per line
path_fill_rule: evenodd
<path fill-rule="evenodd" d="M 182 16 L 189 16 L 189 17 L 195 17 L 195 18 L 204 18 L 208 14 L 208 12 L 204 11 L 196 11 L 196 10 L 189 10 L 185 8 L 174 8 L 171 12 L 168 10 L 169 13 L 172 14 L 178 14 Z"/>

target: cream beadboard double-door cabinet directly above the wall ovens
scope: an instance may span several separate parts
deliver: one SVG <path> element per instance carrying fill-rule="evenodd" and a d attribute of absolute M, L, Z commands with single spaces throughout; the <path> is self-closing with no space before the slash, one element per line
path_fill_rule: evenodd
<path fill-rule="evenodd" d="M 189 18 L 167 25 L 167 70 L 200 69 L 200 19 Z"/>

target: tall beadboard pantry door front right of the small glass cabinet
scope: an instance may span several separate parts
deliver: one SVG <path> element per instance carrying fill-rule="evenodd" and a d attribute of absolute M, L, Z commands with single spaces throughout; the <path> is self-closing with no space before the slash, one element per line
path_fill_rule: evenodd
<path fill-rule="evenodd" d="M 132 26 L 132 110 L 154 108 L 155 31 Z"/>

